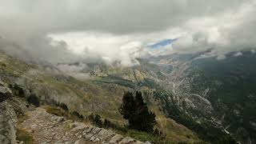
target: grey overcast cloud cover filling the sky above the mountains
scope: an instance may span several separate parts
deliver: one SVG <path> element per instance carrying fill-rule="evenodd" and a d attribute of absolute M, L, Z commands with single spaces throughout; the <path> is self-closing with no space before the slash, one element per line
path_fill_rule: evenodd
<path fill-rule="evenodd" d="M 0 0 L 0 49 L 51 63 L 256 47 L 255 0 Z M 178 38 L 162 50 L 147 46 Z M 239 53 L 238 53 L 239 54 Z"/>

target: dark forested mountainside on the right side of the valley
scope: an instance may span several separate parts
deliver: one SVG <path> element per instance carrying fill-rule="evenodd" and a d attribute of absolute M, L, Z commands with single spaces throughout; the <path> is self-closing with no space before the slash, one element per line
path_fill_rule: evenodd
<path fill-rule="evenodd" d="M 211 52 L 174 54 L 154 62 L 173 66 L 166 76 L 187 114 L 197 122 L 220 126 L 241 143 L 255 143 L 256 55 L 242 51 L 222 60 L 205 57 Z"/>

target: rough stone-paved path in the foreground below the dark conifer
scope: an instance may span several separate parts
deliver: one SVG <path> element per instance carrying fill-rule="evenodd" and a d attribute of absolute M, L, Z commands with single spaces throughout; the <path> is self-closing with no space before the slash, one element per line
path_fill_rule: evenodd
<path fill-rule="evenodd" d="M 136 141 L 134 138 L 124 138 L 112 130 L 66 120 L 49 114 L 42 108 L 28 111 L 26 120 L 19 127 L 28 131 L 38 144 L 144 143 Z"/>

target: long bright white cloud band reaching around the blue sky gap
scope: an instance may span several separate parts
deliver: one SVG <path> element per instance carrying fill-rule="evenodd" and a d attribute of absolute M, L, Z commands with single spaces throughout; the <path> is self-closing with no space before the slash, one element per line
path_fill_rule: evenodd
<path fill-rule="evenodd" d="M 177 38 L 183 33 L 180 30 L 150 34 L 114 35 L 100 32 L 84 31 L 61 34 L 48 34 L 54 42 L 66 42 L 67 48 L 74 54 L 86 58 L 102 58 L 107 63 L 121 62 L 122 66 L 138 64 L 136 58 L 146 57 L 149 54 L 170 54 L 171 46 L 161 50 L 148 50 L 149 42 L 158 42 L 163 38 Z"/>

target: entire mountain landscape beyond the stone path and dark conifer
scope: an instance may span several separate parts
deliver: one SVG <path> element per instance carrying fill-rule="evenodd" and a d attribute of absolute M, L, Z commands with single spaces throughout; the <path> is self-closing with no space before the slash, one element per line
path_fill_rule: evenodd
<path fill-rule="evenodd" d="M 86 69 L 79 74 L 89 78 L 58 69 L 58 65 L 81 62 L 54 66 L 2 53 L 0 58 L 2 81 L 21 87 L 25 98 L 34 94 L 42 105 L 63 103 L 71 113 L 99 114 L 123 125 L 126 121 L 118 112 L 122 94 L 140 90 L 157 115 L 166 142 L 255 142 L 256 55 L 252 51 L 229 53 L 222 59 L 212 49 L 138 58 L 139 65 L 130 67 L 84 62 Z"/>

